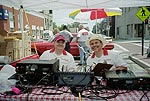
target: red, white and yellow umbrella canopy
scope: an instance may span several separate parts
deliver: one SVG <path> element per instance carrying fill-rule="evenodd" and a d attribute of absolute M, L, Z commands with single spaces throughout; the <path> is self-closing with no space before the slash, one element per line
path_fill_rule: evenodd
<path fill-rule="evenodd" d="M 122 15 L 120 8 L 78 9 L 69 14 L 72 19 L 89 18 L 90 20 Z"/>

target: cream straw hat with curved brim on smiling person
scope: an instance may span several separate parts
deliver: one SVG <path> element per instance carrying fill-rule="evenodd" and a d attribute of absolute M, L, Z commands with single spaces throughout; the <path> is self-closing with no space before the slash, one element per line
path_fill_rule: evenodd
<path fill-rule="evenodd" d="M 98 39 L 103 43 L 103 47 L 106 45 L 106 40 L 100 34 L 92 34 L 91 37 L 85 42 L 86 46 L 90 48 L 90 41 Z"/>

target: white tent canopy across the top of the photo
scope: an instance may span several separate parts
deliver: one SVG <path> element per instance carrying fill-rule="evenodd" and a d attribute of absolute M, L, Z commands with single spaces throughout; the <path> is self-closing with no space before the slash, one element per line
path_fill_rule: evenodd
<path fill-rule="evenodd" d="M 149 0 L 0 0 L 0 4 L 26 10 L 54 10 L 79 8 L 114 8 L 150 6 Z"/>

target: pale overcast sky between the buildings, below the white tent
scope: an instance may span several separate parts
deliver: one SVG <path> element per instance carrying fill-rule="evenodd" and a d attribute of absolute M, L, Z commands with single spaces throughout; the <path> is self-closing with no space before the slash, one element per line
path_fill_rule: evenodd
<path fill-rule="evenodd" d="M 81 22 L 81 23 L 87 23 L 84 24 L 85 27 L 89 27 L 90 30 L 92 30 L 93 25 L 95 25 L 96 20 L 89 20 L 88 18 L 85 19 L 77 19 L 77 20 L 73 20 L 72 18 L 69 18 L 69 13 L 73 12 L 75 9 L 63 9 L 63 10 L 54 10 L 53 11 L 53 19 L 54 22 L 56 22 L 56 24 L 58 26 L 60 26 L 61 24 L 70 24 L 73 22 Z"/>

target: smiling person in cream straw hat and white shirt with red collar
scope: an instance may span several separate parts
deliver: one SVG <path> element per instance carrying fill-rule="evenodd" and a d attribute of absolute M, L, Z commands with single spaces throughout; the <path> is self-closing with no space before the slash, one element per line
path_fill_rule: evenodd
<path fill-rule="evenodd" d="M 106 40 L 101 35 L 93 34 L 85 44 L 93 51 L 92 55 L 87 59 L 88 66 L 92 67 L 97 63 L 106 63 L 113 65 L 111 69 L 127 70 L 127 64 L 123 61 L 118 52 L 103 49 L 106 45 Z"/>

